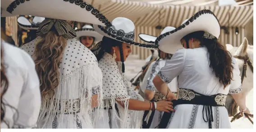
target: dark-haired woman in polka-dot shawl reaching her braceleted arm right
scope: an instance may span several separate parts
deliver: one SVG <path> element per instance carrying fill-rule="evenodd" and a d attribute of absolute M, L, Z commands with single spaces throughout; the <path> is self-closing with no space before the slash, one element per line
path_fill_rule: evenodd
<path fill-rule="evenodd" d="M 92 49 L 99 60 L 103 74 L 104 117 L 96 128 L 141 128 L 142 110 L 172 110 L 169 101 L 149 102 L 128 86 L 124 78 L 124 63 L 131 44 L 157 48 L 153 44 L 134 42 L 134 24 L 127 18 L 115 18 L 112 26 L 94 25 L 94 29 L 104 35 L 102 41 Z"/>

